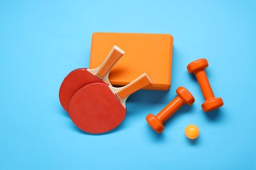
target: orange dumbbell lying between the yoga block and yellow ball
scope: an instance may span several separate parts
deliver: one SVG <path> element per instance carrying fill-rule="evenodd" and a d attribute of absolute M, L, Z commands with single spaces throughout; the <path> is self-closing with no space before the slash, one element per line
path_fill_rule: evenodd
<path fill-rule="evenodd" d="M 195 99 L 193 95 L 186 90 L 186 88 L 179 87 L 176 90 L 177 97 L 173 99 L 161 112 L 156 116 L 153 114 L 148 114 L 146 116 L 146 121 L 148 124 L 158 133 L 161 133 L 164 129 L 163 123 L 170 118 L 179 108 L 182 107 L 185 103 L 192 105 Z"/>

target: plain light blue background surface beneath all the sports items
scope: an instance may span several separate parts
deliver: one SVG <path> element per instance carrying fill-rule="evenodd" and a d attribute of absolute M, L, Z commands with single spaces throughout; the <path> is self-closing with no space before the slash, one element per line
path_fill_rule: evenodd
<path fill-rule="evenodd" d="M 0 169 L 256 169 L 255 1 L 0 0 Z M 63 78 L 89 66 L 96 32 L 170 33 L 171 90 L 129 97 L 121 126 L 89 135 L 58 101 Z M 203 112 L 203 95 L 186 65 L 207 58 L 207 75 L 224 106 Z M 145 117 L 185 86 L 182 107 L 161 135 Z M 200 128 L 192 142 L 188 124 Z"/>

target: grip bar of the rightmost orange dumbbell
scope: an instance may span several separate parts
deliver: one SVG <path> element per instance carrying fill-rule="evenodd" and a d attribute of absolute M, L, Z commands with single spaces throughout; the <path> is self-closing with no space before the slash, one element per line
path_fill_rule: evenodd
<path fill-rule="evenodd" d="M 195 73 L 195 75 L 196 79 L 198 80 L 198 84 L 202 90 L 204 99 L 207 100 L 212 97 L 215 97 L 205 71 L 198 71 Z"/>

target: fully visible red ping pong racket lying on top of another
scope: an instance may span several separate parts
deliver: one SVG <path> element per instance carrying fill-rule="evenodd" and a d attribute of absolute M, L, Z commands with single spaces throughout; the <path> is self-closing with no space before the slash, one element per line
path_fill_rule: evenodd
<path fill-rule="evenodd" d="M 104 133 L 119 126 L 125 118 L 127 97 L 151 83 L 146 73 L 121 88 L 93 83 L 78 90 L 68 112 L 74 124 L 88 133 Z"/>

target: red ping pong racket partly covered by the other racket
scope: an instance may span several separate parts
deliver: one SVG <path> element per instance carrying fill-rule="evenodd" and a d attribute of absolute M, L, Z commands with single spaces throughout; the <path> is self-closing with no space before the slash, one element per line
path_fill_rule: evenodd
<path fill-rule="evenodd" d="M 125 54 L 123 50 L 114 46 L 100 67 L 96 69 L 75 69 L 69 73 L 60 85 L 60 91 L 58 93 L 62 107 L 68 112 L 68 105 L 72 96 L 77 90 L 87 84 L 95 82 L 110 84 L 108 80 L 110 69 L 112 69 L 123 54 Z M 110 86 L 112 85 L 110 84 Z"/>

